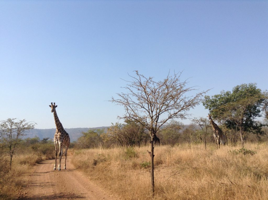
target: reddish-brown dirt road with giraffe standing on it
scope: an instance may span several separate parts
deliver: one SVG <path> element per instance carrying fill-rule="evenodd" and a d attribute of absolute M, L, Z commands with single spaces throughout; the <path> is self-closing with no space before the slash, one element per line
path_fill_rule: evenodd
<path fill-rule="evenodd" d="M 116 199 L 90 183 L 88 178 L 74 168 L 70 162 L 71 159 L 72 156 L 68 155 L 67 169 L 61 171 L 53 170 L 54 160 L 46 160 L 36 165 L 18 199 Z M 63 162 L 64 156 L 62 168 Z"/>

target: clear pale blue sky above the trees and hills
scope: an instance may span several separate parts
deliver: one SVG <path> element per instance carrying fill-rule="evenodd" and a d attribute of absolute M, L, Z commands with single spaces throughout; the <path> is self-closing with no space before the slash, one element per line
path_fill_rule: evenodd
<path fill-rule="evenodd" d="M 0 120 L 54 128 L 56 102 L 65 128 L 110 126 L 124 109 L 109 100 L 133 70 L 183 70 L 207 95 L 266 90 L 267 55 L 267 1 L 0 1 Z"/>

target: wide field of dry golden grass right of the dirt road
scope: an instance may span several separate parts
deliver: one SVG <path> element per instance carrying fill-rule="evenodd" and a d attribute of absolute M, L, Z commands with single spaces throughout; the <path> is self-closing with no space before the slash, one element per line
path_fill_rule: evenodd
<path fill-rule="evenodd" d="M 157 146 L 154 199 L 268 199 L 268 145 L 245 144 L 254 155 L 230 152 L 239 148 Z M 140 166 L 149 149 L 77 150 L 73 163 L 121 199 L 150 199 L 150 169 Z"/>

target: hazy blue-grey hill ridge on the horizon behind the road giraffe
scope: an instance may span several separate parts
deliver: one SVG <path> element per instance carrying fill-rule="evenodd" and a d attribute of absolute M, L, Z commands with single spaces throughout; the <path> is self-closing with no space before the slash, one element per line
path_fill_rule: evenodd
<path fill-rule="evenodd" d="M 73 128 L 73 129 L 65 129 L 65 131 L 70 135 L 71 142 L 76 141 L 82 134 L 82 132 L 87 132 L 88 130 L 94 129 L 107 129 L 107 126 L 95 127 L 95 128 Z M 32 129 L 26 133 L 24 138 L 34 138 L 39 137 L 43 138 L 54 138 L 56 129 Z"/>

